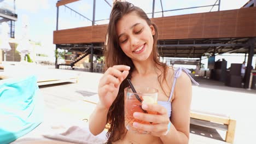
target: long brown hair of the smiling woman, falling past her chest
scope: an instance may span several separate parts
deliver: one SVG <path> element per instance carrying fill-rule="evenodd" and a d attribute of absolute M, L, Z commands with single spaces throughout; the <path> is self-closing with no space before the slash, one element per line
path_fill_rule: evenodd
<path fill-rule="evenodd" d="M 115 26 L 124 15 L 130 14 L 133 11 L 135 11 L 135 13 L 139 17 L 144 19 L 148 23 L 148 26 L 153 26 L 155 29 L 155 35 L 153 35 L 154 43 L 152 55 L 155 65 L 161 65 L 162 67 L 164 67 L 164 71 L 156 67 L 161 71 L 161 74 L 159 74 L 158 76 L 158 80 L 162 87 L 162 82 L 166 81 L 167 65 L 159 61 L 158 49 L 156 47 L 158 40 L 158 28 L 156 27 L 155 23 L 153 23 L 148 18 L 147 14 L 141 8 L 138 8 L 129 2 L 115 2 L 113 9 L 111 11 L 106 34 L 107 47 L 106 49 L 104 49 L 104 55 L 106 57 L 106 68 L 120 64 L 129 65 L 131 69 L 126 79 L 131 79 L 131 73 L 135 69 L 135 65 L 133 64 L 131 58 L 126 56 L 121 47 L 119 46 L 117 29 Z M 120 140 L 126 134 L 124 124 L 124 88 L 129 86 L 129 83 L 126 79 L 121 83 L 117 98 L 114 100 L 113 104 L 110 106 L 108 111 L 107 123 L 110 125 L 110 127 L 107 132 L 107 143 L 112 143 L 117 140 Z"/>

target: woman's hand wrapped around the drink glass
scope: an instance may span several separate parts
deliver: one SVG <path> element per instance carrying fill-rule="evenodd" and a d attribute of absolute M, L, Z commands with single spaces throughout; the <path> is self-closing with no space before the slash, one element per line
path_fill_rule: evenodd
<path fill-rule="evenodd" d="M 156 104 L 143 104 L 142 109 L 147 111 L 156 111 L 158 112 L 158 115 L 135 112 L 133 113 L 133 117 L 141 121 L 152 122 L 154 124 L 142 124 L 133 122 L 132 126 L 143 131 L 148 131 L 149 134 L 153 136 L 160 137 L 166 135 L 170 119 L 167 115 L 167 110 L 165 109 L 165 107 Z"/>

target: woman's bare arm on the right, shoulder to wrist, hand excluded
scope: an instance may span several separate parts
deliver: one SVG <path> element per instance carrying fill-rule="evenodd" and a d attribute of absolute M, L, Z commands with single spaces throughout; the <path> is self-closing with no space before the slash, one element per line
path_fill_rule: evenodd
<path fill-rule="evenodd" d="M 163 143 L 188 143 L 191 95 L 191 80 L 182 73 L 174 89 L 170 131 L 160 137 Z"/>

